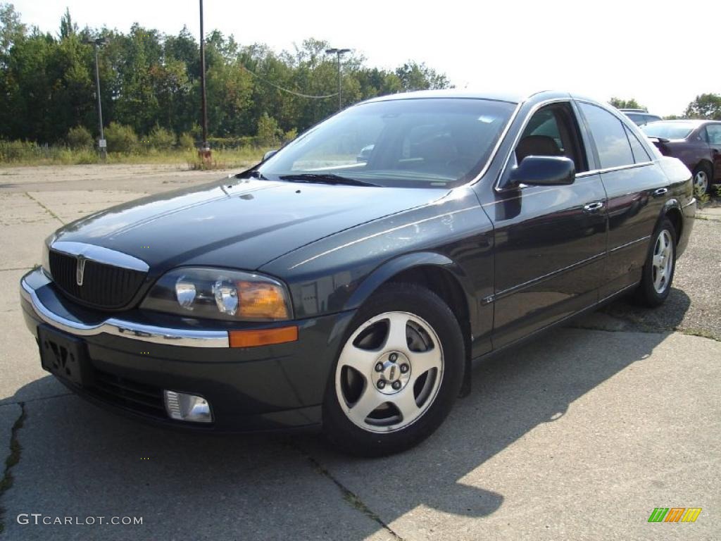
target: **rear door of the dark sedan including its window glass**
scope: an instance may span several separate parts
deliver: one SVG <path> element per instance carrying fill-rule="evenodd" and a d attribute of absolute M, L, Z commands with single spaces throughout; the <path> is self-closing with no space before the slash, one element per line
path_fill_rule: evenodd
<path fill-rule="evenodd" d="M 668 179 L 621 118 L 592 103 L 578 101 L 578 107 L 608 194 L 609 257 L 600 294 L 604 299 L 640 281 Z"/>

